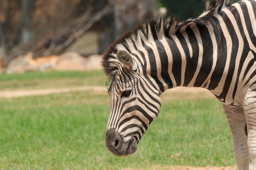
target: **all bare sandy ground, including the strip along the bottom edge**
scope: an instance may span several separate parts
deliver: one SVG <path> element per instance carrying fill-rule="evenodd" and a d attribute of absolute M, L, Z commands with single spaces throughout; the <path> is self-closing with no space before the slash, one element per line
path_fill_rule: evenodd
<path fill-rule="evenodd" d="M 104 86 L 81 86 L 81 87 L 72 87 L 72 88 L 49 88 L 49 89 L 29 89 L 29 90 L 4 90 L 0 91 L 0 98 L 13 98 L 13 97 L 23 97 L 23 96 L 35 96 L 35 95 L 47 95 L 54 93 L 66 93 L 70 91 L 106 91 L 107 89 Z M 179 92 L 187 93 L 188 96 L 197 98 L 199 96 L 214 98 L 213 94 L 210 91 L 203 88 L 184 88 L 177 87 L 167 90 L 165 93 L 172 93 L 173 95 L 165 95 L 163 98 L 175 98 Z M 164 168 L 164 167 L 163 167 Z M 165 169 L 165 168 L 164 168 Z M 226 166 L 226 167 L 191 167 L 191 166 L 168 166 L 166 169 L 170 170 L 236 170 L 236 166 Z M 250 165 L 252 169 L 252 165 Z M 122 169 L 130 170 L 130 169 Z"/>

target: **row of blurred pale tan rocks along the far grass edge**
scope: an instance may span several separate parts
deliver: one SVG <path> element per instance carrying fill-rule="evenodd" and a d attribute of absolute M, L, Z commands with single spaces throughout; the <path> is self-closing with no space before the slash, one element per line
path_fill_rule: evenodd
<path fill-rule="evenodd" d="M 87 58 L 76 52 L 66 52 L 60 56 L 50 55 L 46 57 L 33 58 L 33 53 L 20 55 L 10 61 L 5 72 L 25 73 L 29 71 L 90 71 L 100 70 L 101 55 L 91 55 Z M 3 69 L 4 70 L 4 69 Z M 1 63 L 0 63 L 1 73 Z"/>

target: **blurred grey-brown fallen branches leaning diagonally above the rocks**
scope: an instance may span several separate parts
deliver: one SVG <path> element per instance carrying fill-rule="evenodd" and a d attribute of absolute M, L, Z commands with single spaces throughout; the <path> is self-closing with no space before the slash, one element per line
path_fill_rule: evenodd
<path fill-rule="evenodd" d="M 22 46 L 13 47 L 9 51 L 5 64 L 7 65 L 16 56 L 25 55 L 29 51 L 33 52 L 35 57 L 58 55 L 79 38 L 79 36 L 88 31 L 94 23 L 112 13 L 113 10 L 113 5 L 110 3 L 95 13 L 92 12 L 93 7 L 88 7 L 80 17 L 71 20 L 62 29 L 40 36 L 37 39 L 32 39 Z"/>

